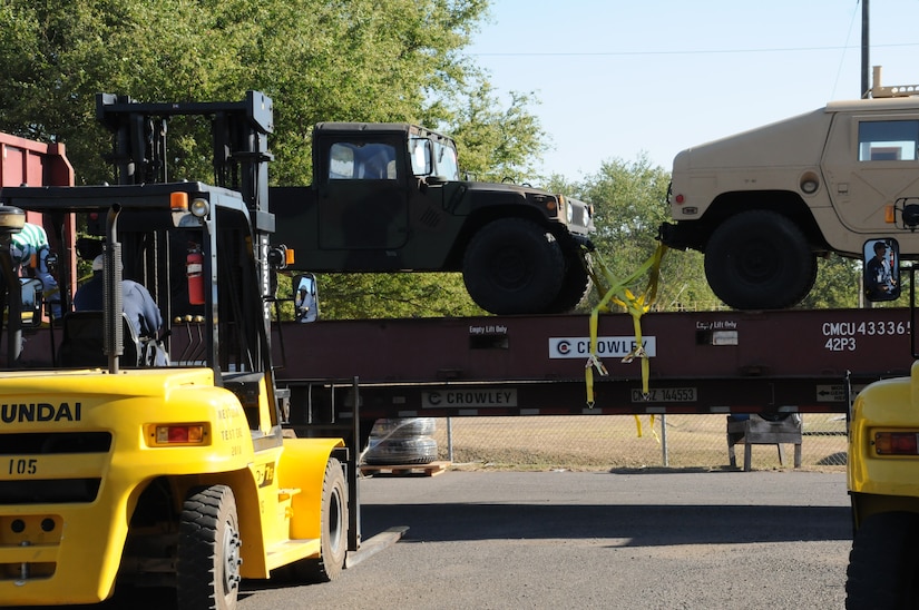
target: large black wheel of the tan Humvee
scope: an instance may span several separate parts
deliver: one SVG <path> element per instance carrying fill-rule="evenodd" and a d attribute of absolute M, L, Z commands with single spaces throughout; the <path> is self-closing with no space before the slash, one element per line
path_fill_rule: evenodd
<path fill-rule="evenodd" d="M 813 287 L 817 259 L 786 216 L 754 209 L 732 216 L 708 239 L 705 276 L 736 309 L 782 309 Z"/>

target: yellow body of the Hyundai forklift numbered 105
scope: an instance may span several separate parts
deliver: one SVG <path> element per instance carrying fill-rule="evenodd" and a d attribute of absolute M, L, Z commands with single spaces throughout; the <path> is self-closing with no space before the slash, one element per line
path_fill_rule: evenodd
<path fill-rule="evenodd" d="M 264 412 L 264 380 L 261 390 Z M 26 490 L 0 512 L 0 606 L 108 598 L 134 509 L 160 478 L 182 491 L 233 489 L 245 578 L 319 557 L 317 499 L 329 455 L 343 441 L 265 434 L 257 415 L 251 430 L 212 370 L 0 373 L 0 395 L 10 403 L 0 405 L 4 434 L 43 445 L 0 455 L 0 484 Z"/>

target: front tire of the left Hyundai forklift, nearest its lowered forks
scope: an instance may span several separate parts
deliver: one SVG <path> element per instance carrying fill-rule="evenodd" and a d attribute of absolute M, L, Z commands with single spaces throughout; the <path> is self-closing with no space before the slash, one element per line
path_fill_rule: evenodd
<path fill-rule="evenodd" d="M 296 582 L 330 582 L 338 579 L 344 569 L 348 554 L 348 482 L 336 457 L 330 457 L 325 464 L 320 519 L 321 554 L 319 559 L 303 559 L 291 565 L 291 577 Z"/>

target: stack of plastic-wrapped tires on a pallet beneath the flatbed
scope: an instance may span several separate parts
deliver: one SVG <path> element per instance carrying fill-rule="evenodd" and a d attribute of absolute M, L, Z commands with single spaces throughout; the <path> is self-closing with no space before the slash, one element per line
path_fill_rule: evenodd
<path fill-rule="evenodd" d="M 377 420 L 370 431 L 364 463 L 371 465 L 430 464 L 437 460 L 433 417 Z"/>

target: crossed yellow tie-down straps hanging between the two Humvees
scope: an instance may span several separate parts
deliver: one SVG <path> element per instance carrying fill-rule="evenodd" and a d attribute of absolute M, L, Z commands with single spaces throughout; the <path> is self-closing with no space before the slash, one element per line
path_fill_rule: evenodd
<path fill-rule="evenodd" d="M 585 365 L 585 381 L 587 384 L 587 406 L 594 407 L 594 370 L 597 370 L 600 376 L 607 376 L 609 373 L 600 362 L 597 355 L 597 326 L 599 321 L 599 313 L 608 313 L 609 304 L 615 303 L 625 308 L 632 315 L 632 323 L 635 327 L 635 350 L 629 352 L 623 362 L 633 362 L 635 358 L 641 360 L 642 364 L 642 393 L 644 396 L 648 395 L 648 376 L 649 365 L 648 356 L 642 347 L 642 315 L 644 315 L 654 304 L 657 297 L 657 283 L 661 278 L 661 262 L 664 259 L 664 254 L 667 252 L 667 246 L 659 244 L 654 254 L 638 267 L 638 269 L 624 279 L 615 279 L 609 273 L 609 268 L 604 264 L 603 258 L 596 250 L 592 252 L 589 256 L 585 254 L 585 262 L 587 263 L 587 273 L 590 274 L 594 281 L 594 286 L 602 295 L 600 302 L 590 312 L 590 354 Z M 643 275 L 648 275 L 645 292 L 639 295 L 633 294 L 628 286 L 633 285 Z M 638 427 L 638 436 L 642 436 L 642 421 L 635 415 L 635 424 Z M 652 432 L 654 432 L 654 415 L 651 416 Z M 655 437 L 657 434 L 655 433 Z"/>

